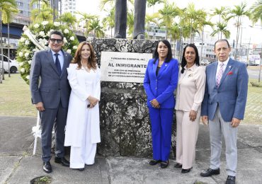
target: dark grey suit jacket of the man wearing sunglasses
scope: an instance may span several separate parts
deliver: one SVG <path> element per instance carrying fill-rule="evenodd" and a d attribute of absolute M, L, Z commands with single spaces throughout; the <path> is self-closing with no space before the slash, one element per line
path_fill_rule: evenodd
<path fill-rule="evenodd" d="M 63 51 L 62 51 L 63 52 Z M 45 108 L 67 108 L 70 96 L 70 86 L 67 80 L 67 67 L 72 56 L 64 54 L 64 66 L 59 76 L 50 49 L 35 52 L 30 69 L 30 91 L 32 103 L 42 102 Z"/>

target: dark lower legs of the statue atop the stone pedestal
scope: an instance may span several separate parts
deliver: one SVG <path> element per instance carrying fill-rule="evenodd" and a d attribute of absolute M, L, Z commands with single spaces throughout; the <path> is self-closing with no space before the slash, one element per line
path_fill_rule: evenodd
<path fill-rule="evenodd" d="M 135 0 L 134 39 L 144 39 L 147 0 Z M 115 38 L 127 37 L 127 0 L 115 1 Z"/>

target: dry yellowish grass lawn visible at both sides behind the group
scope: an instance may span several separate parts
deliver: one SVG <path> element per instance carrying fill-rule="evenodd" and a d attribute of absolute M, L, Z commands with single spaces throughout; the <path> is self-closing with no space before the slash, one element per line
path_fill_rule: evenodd
<path fill-rule="evenodd" d="M 35 116 L 37 111 L 31 104 L 28 84 L 21 79 L 20 74 L 5 75 L 0 84 L 0 115 Z M 257 81 L 251 79 L 250 81 Z M 246 113 L 243 124 L 262 124 L 262 88 L 253 87 L 249 83 L 249 93 L 246 103 Z"/>

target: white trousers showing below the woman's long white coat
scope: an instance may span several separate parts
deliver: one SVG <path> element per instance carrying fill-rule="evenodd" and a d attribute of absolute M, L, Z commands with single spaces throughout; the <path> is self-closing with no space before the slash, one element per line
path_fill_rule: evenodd
<path fill-rule="evenodd" d="M 96 143 L 91 143 L 90 121 L 86 123 L 86 134 L 81 142 L 81 147 L 71 146 L 70 168 L 84 168 L 86 165 L 93 165 L 96 156 Z"/>

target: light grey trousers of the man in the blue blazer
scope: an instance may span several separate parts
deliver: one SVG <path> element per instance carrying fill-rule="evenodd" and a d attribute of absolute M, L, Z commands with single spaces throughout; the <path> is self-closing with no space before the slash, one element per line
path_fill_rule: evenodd
<path fill-rule="evenodd" d="M 215 117 L 209 120 L 210 128 L 210 168 L 220 167 L 220 156 L 222 150 L 222 134 L 226 144 L 227 174 L 236 176 L 237 170 L 237 127 L 232 127 L 231 122 L 225 122 L 217 107 Z"/>

